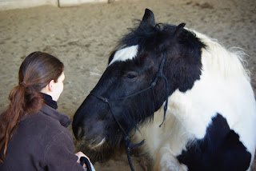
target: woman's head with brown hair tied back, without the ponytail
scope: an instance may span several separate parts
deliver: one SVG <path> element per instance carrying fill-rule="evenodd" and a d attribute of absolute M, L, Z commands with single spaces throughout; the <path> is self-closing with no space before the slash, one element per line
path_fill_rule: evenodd
<path fill-rule="evenodd" d="M 34 52 L 26 57 L 18 73 L 20 84 L 25 85 L 27 91 L 47 93 L 54 101 L 63 90 L 64 65 L 54 56 L 42 52 Z"/>

